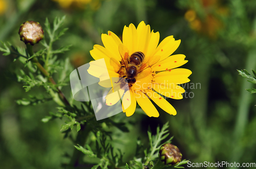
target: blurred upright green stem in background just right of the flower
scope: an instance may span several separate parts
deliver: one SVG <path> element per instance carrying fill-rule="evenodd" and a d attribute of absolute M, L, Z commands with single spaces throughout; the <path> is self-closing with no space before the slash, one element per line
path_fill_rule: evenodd
<path fill-rule="evenodd" d="M 203 147 L 200 158 L 205 161 L 212 160 L 211 157 L 211 142 L 207 137 L 207 97 L 208 97 L 208 87 L 209 87 L 209 70 L 211 66 L 211 60 L 207 58 L 198 58 L 194 63 L 194 76 L 195 83 L 199 83 L 199 89 L 195 89 L 194 98 L 190 102 L 191 118 L 193 118 L 193 128 L 195 131 L 195 136 L 199 140 L 199 144 Z M 197 87 L 196 87 L 197 88 Z"/>

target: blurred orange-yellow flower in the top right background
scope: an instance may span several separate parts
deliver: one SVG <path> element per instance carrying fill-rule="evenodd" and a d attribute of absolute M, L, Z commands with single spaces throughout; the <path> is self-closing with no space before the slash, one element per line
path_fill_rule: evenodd
<path fill-rule="evenodd" d="M 198 0 L 196 3 L 200 4 L 201 13 L 203 12 L 204 16 L 199 16 L 196 7 L 191 6 L 185 13 L 185 19 L 189 22 L 191 29 L 210 38 L 216 38 L 218 31 L 223 28 L 220 17 L 227 16 L 228 9 L 221 6 L 218 0 Z"/>

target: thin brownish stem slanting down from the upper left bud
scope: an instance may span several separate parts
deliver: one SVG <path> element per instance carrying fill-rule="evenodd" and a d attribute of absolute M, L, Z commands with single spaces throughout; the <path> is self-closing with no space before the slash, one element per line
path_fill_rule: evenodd
<path fill-rule="evenodd" d="M 30 57 L 34 54 L 33 52 L 33 46 L 30 44 L 27 44 L 27 50 L 28 53 L 30 55 Z M 54 79 L 50 76 L 50 74 L 46 71 L 46 69 L 44 67 L 42 67 L 42 65 L 38 62 L 38 60 L 36 58 L 32 59 L 32 62 L 37 66 L 37 68 L 42 72 L 42 74 L 44 74 L 46 77 L 48 77 L 48 80 L 53 84 L 56 85 L 56 82 L 54 81 Z M 70 106 L 69 101 L 66 99 L 65 95 L 59 90 L 59 88 L 57 88 L 58 90 L 58 95 L 59 98 L 62 100 L 63 103 L 65 103 L 66 105 Z M 56 100 L 55 100 L 56 101 Z M 59 105 L 64 106 L 64 104 L 57 102 Z"/>

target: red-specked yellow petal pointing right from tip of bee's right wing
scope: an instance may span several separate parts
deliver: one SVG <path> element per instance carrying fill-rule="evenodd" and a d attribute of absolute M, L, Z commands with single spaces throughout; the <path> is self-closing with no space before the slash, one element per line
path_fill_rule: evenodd
<path fill-rule="evenodd" d="M 187 63 L 184 61 L 186 56 L 184 54 L 175 54 L 155 64 L 152 69 L 155 71 L 163 71 L 180 67 Z"/>

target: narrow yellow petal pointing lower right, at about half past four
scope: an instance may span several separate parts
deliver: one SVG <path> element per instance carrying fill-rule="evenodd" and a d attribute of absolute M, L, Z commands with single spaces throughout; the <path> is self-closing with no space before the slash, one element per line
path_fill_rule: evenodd
<path fill-rule="evenodd" d="M 176 109 L 168 102 L 166 101 L 162 96 L 157 94 L 156 92 L 152 90 L 147 91 L 147 96 L 150 97 L 160 108 L 162 108 L 164 111 L 166 111 L 170 115 L 176 115 L 177 111 Z"/>

